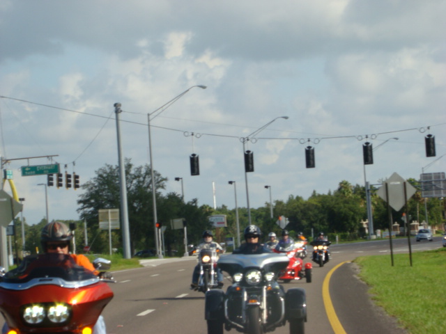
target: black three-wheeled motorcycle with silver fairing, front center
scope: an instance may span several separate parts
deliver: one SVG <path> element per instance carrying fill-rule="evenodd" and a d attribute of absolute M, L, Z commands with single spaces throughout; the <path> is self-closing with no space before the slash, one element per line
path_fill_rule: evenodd
<path fill-rule="evenodd" d="M 226 294 L 222 289 L 206 292 L 205 319 L 208 334 L 236 328 L 241 333 L 262 334 L 289 322 L 290 334 L 303 334 L 307 321 L 305 290 L 288 289 L 277 276 L 289 264 L 281 254 L 232 254 L 221 257 L 218 267 L 232 276 Z"/>

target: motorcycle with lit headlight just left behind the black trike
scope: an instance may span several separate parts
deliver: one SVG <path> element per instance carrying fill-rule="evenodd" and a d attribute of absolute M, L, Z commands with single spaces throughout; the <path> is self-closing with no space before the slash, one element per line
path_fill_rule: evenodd
<path fill-rule="evenodd" d="M 198 255 L 200 276 L 197 290 L 204 292 L 218 287 L 217 260 L 218 249 L 203 248 Z"/>

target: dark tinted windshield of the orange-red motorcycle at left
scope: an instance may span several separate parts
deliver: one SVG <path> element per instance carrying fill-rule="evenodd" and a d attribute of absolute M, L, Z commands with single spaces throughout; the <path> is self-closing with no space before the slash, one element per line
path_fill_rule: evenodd
<path fill-rule="evenodd" d="M 4 283 L 24 283 L 34 278 L 61 278 L 67 282 L 90 280 L 95 274 L 76 264 L 66 254 L 45 253 L 29 255 L 16 269 L 3 276 Z"/>

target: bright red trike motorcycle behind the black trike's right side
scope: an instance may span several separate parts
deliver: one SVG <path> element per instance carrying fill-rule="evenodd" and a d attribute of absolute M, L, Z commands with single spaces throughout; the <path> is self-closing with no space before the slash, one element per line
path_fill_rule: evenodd
<path fill-rule="evenodd" d="M 305 278 L 307 283 L 312 283 L 312 268 L 311 263 L 305 263 L 298 255 L 298 252 L 302 250 L 296 246 L 293 242 L 289 244 L 277 244 L 274 248 L 274 253 L 286 253 L 289 258 L 289 264 L 286 269 L 280 271 L 279 280 L 283 280 L 284 283 L 289 283 L 291 280 L 302 280 Z"/>

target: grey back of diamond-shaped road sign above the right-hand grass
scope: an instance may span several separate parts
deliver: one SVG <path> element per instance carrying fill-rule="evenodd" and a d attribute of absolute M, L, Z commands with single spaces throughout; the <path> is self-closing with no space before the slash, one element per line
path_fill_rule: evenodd
<path fill-rule="evenodd" d="M 387 189 L 389 191 L 389 199 L 385 193 L 385 184 L 387 183 Z M 406 183 L 406 198 L 404 198 L 404 183 Z M 399 211 L 401 207 L 409 200 L 413 194 L 417 191 L 409 182 L 406 182 L 403 177 L 399 176 L 397 173 L 393 173 L 383 186 L 376 191 L 380 198 L 383 198 L 385 202 L 389 202 L 389 205 L 395 210 Z"/>

